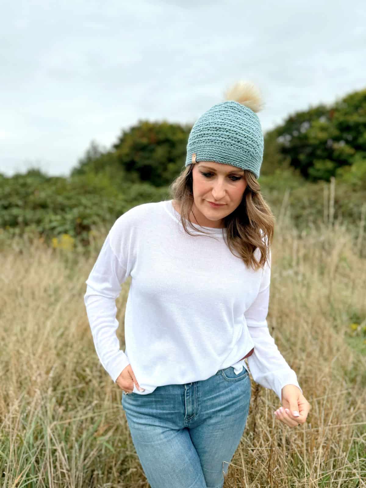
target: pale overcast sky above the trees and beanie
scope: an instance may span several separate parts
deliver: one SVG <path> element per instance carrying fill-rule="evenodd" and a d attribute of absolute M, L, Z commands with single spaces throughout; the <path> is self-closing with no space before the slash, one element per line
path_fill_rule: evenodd
<path fill-rule="evenodd" d="M 237 80 L 264 132 L 366 88 L 365 0 L 12 0 L 0 19 L 0 172 L 67 176 L 140 119 L 193 124 Z"/>

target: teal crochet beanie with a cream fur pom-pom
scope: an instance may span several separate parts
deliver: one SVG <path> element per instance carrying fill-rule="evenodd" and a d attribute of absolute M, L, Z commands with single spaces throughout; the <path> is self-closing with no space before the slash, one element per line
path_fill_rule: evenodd
<path fill-rule="evenodd" d="M 256 112 L 263 108 L 253 83 L 238 81 L 194 123 L 187 143 L 185 166 L 214 161 L 248 169 L 259 178 L 264 139 Z"/>

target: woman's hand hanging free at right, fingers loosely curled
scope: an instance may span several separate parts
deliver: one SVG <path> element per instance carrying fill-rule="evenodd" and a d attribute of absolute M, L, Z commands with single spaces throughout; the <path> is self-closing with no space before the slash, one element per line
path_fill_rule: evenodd
<path fill-rule="evenodd" d="M 295 427 L 305 423 L 310 408 L 309 402 L 297 386 L 285 385 L 282 388 L 282 407 L 274 413 L 281 422 L 289 427 Z"/>

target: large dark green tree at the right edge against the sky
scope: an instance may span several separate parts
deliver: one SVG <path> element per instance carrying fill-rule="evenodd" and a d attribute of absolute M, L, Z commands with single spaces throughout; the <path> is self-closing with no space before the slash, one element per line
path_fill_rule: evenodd
<path fill-rule="evenodd" d="M 302 176 L 329 181 L 339 168 L 366 161 L 366 89 L 291 115 L 276 134 L 284 159 Z"/>

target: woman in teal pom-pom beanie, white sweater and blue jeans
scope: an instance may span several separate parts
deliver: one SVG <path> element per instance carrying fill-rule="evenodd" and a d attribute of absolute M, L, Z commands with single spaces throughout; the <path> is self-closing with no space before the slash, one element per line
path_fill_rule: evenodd
<path fill-rule="evenodd" d="M 276 418 L 297 426 L 310 408 L 266 322 L 274 217 L 257 182 L 260 94 L 239 82 L 225 99 L 193 125 L 173 199 L 119 217 L 86 281 L 96 351 L 152 488 L 223 487 L 249 411 L 244 358 L 282 402 Z M 115 300 L 128 276 L 122 351 Z"/>

